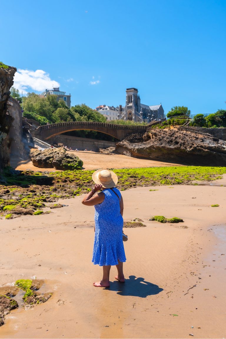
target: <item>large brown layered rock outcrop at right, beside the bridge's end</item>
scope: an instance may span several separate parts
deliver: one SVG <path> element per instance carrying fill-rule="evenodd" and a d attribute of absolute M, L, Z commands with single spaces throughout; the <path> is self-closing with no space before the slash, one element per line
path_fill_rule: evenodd
<path fill-rule="evenodd" d="M 151 129 L 143 142 L 122 140 L 116 151 L 127 156 L 188 165 L 226 166 L 226 141 L 180 127 Z"/>

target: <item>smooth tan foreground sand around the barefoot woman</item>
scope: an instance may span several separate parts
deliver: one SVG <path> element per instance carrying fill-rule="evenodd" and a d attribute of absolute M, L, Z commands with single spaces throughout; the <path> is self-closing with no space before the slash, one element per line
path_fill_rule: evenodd
<path fill-rule="evenodd" d="M 122 192 L 124 220 L 140 218 L 146 227 L 125 229 L 126 281 L 116 281 L 112 267 L 110 288 L 93 286 L 102 267 L 91 263 L 94 207 L 82 196 L 59 200 L 68 206 L 48 215 L 0 220 L 0 286 L 35 276 L 45 279 L 40 292 L 53 292 L 46 303 L 7 315 L 0 336 L 225 337 L 225 179 Z M 154 215 L 184 222 L 148 221 Z"/>

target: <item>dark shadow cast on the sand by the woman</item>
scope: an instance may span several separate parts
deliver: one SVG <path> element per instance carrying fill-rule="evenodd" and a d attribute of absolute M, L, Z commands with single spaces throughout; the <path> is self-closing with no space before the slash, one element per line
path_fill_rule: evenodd
<path fill-rule="evenodd" d="M 145 281 L 144 278 L 137 278 L 136 276 L 129 276 L 125 279 L 125 283 L 119 281 L 111 282 L 109 291 L 116 291 L 121 296 L 134 296 L 146 298 L 147 296 L 158 294 L 163 291 L 158 285 Z"/>

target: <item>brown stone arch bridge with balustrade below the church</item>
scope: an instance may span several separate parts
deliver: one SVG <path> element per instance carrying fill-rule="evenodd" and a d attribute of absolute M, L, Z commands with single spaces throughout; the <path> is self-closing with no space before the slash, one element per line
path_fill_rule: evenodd
<path fill-rule="evenodd" d="M 133 126 L 133 125 L 116 125 L 95 121 L 73 121 L 39 126 L 37 129 L 33 128 L 31 132 L 34 136 L 37 136 L 38 139 L 47 140 L 51 137 L 54 137 L 57 134 L 69 131 L 76 131 L 79 129 L 87 129 L 89 131 L 102 132 L 118 140 L 122 140 L 128 134 L 146 132 L 148 127 L 149 125 Z"/>

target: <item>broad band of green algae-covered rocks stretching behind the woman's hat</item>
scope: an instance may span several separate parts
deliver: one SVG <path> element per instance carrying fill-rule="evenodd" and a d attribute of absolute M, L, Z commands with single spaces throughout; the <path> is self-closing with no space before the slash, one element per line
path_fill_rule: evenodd
<path fill-rule="evenodd" d="M 7 168 L 4 171 L 7 185 L 0 185 L 0 211 L 4 209 L 5 212 L 12 211 L 13 213 L 16 207 L 33 211 L 41 210 L 45 202 L 76 198 L 81 194 L 87 194 L 94 186 L 93 172 L 78 170 L 46 172 L 44 175 L 41 172 L 32 171 L 12 172 L 12 169 Z M 114 169 L 114 172 L 119 179 L 117 187 L 125 191 L 130 187 L 139 186 L 194 185 L 194 180 L 210 182 L 222 178 L 222 175 L 226 173 L 226 167 L 141 167 Z M 6 190 L 7 194 L 5 194 Z"/>

